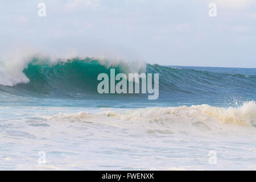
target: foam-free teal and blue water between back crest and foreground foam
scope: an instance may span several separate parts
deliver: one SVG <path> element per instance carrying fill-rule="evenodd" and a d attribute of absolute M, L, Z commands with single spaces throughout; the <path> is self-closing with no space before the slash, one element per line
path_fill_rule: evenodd
<path fill-rule="evenodd" d="M 1 86 L 5 105 L 148 107 L 201 105 L 230 106 L 255 100 L 256 68 L 214 68 L 146 65 L 147 73 L 159 73 L 159 98 L 147 94 L 98 94 L 97 75 L 115 68 L 127 72 L 127 65 L 107 68 L 98 60 L 74 59 L 55 65 L 31 61 L 23 70 L 28 83 Z M 9 94 L 9 95 L 6 95 Z M 13 98 L 14 96 L 14 98 Z M 6 97 L 6 98 L 5 98 Z M 11 97 L 11 98 L 9 98 Z M 28 98 L 28 100 L 27 100 Z M 11 101 L 18 99 L 18 103 Z M 51 102 L 55 100 L 55 102 Z M 92 104 L 93 100 L 93 104 Z"/>

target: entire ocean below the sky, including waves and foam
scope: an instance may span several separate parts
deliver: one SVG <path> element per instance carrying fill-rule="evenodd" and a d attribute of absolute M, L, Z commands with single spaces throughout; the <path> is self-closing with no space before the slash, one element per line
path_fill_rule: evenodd
<path fill-rule="evenodd" d="M 99 94 L 111 68 L 159 73 L 159 98 Z M 0 169 L 256 170 L 255 101 L 256 68 L 0 61 Z"/>

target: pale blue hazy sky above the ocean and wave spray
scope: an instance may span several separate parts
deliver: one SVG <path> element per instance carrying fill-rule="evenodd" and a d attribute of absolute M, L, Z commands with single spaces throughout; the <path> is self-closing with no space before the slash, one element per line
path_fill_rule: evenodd
<path fill-rule="evenodd" d="M 45 3 L 46 16 L 38 16 Z M 209 4 L 216 16 L 209 16 Z M 150 64 L 256 68 L 254 0 L 0 1 L 0 57 L 24 49 Z"/>

